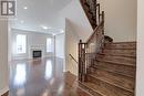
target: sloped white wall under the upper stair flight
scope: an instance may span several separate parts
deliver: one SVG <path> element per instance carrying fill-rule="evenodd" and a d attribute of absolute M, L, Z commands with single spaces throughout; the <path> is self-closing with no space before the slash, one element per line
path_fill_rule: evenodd
<path fill-rule="evenodd" d="M 71 21 L 71 26 L 83 41 L 86 41 L 92 34 L 93 29 L 79 0 L 72 0 L 70 4 L 61 10 L 60 15 Z"/>

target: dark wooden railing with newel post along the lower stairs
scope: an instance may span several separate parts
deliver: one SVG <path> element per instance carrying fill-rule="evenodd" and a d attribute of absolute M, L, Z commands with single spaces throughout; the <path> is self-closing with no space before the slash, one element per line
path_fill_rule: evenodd
<path fill-rule="evenodd" d="M 99 8 L 100 9 L 100 8 Z M 99 25 L 95 28 L 86 43 L 80 40 L 79 43 L 79 81 L 86 82 L 90 67 L 93 66 L 93 60 L 96 53 L 104 46 L 104 11 L 99 14 Z"/>

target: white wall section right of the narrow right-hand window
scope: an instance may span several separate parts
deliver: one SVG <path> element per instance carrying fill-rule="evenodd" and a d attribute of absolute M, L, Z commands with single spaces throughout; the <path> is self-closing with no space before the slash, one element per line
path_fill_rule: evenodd
<path fill-rule="evenodd" d="M 55 35 L 55 56 L 60 58 L 64 58 L 64 33 Z"/>

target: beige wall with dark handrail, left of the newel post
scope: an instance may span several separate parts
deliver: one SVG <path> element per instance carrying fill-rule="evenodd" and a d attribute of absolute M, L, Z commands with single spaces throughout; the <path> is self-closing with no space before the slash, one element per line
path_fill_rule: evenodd
<path fill-rule="evenodd" d="M 69 20 L 65 21 L 65 68 L 78 75 L 78 64 L 69 56 L 72 54 L 78 61 L 78 43 L 79 36 L 73 30 Z"/>

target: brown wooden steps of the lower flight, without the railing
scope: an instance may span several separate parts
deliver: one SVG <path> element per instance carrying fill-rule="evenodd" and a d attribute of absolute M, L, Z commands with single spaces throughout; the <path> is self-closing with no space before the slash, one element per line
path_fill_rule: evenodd
<path fill-rule="evenodd" d="M 93 96 L 134 96 L 136 43 L 107 43 L 80 86 Z"/>

